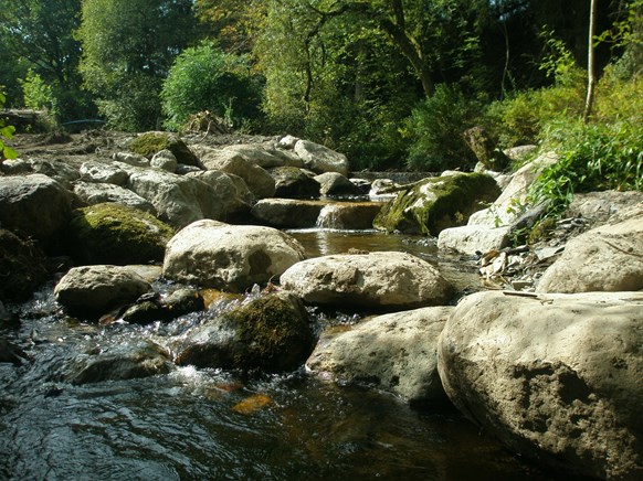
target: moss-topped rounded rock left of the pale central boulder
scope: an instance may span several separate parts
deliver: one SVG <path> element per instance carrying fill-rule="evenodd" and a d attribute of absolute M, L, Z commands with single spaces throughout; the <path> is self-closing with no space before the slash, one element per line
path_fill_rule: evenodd
<path fill-rule="evenodd" d="M 147 212 L 115 203 L 74 211 L 70 235 L 75 254 L 88 264 L 162 260 L 173 229 Z"/>

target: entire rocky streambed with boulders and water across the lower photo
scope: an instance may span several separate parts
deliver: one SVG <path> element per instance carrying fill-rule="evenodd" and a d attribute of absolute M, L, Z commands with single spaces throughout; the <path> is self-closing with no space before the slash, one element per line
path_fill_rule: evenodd
<path fill-rule="evenodd" d="M 399 185 L 292 137 L 34 140 L 0 177 L 7 478 L 642 474 L 640 193 L 514 247 L 551 154 Z"/>

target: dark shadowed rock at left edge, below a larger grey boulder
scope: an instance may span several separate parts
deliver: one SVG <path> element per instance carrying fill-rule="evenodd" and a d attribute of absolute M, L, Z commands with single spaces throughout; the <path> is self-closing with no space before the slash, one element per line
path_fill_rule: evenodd
<path fill-rule="evenodd" d="M 0 300 L 19 302 L 48 278 L 44 256 L 31 240 L 0 229 Z"/>

